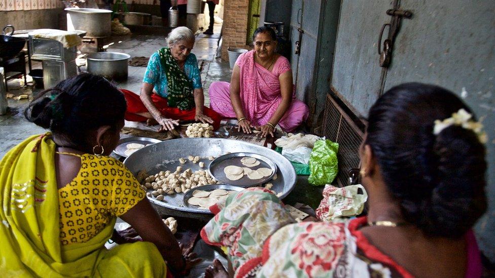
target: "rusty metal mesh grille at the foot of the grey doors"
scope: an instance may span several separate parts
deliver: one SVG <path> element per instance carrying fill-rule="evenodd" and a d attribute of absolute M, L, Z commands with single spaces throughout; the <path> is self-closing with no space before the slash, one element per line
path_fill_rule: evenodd
<path fill-rule="evenodd" d="M 348 173 L 353 168 L 359 168 L 359 146 L 364 134 L 331 95 L 327 95 L 325 104 L 323 134 L 339 143 L 337 183 L 339 186 L 350 185 Z"/>

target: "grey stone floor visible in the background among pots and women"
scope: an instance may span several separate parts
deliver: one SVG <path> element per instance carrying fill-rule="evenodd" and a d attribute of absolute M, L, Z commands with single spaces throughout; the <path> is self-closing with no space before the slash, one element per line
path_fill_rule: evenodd
<path fill-rule="evenodd" d="M 220 58 L 215 58 L 217 51 L 218 37 L 220 33 L 220 24 L 215 25 L 215 34 L 206 36 L 203 34 L 197 35 L 196 43 L 192 53 L 198 60 L 202 60 L 201 78 L 205 93 L 205 105 L 209 106 L 208 88 L 211 82 L 214 81 L 230 81 L 230 68 L 228 62 L 221 62 Z M 145 56 L 150 57 L 158 49 L 164 47 L 166 35 L 139 35 L 133 34 L 130 36 L 116 36 L 109 38 L 109 41 L 114 44 L 108 48 L 108 51 L 123 52 L 131 57 Z M 33 62 L 33 68 L 41 68 L 40 63 Z M 85 70 L 85 66 L 81 67 Z M 115 84 L 118 88 L 127 89 L 138 93 L 143 81 L 143 75 L 146 67 L 129 66 L 129 76 L 127 81 Z M 28 76 L 28 86 L 23 86 L 22 79 L 10 80 L 8 82 L 9 92 L 14 96 L 27 94 L 29 98 L 40 92 L 40 89 L 33 88 L 32 78 Z M 46 132 L 32 123 L 26 121 L 23 115 L 24 108 L 29 103 L 29 100 L 8 99 L 9 112 L 6 115 L 0 115 L 0 157 L 23 141 L 30 135 Z"/>

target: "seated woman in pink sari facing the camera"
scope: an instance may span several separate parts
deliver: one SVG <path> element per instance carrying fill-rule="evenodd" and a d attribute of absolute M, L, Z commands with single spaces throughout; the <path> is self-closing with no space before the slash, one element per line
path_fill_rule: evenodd
<path fill-rule="evenodd" d="M 237 117 L 239 130 L 273 136 L 278 124 L 291 132 L 308 117 L 308 107 L 297 100 L 287 58 L 275 53 L 275 31 L 259 27 L 253 34 L 254 50 L 237 58 L 230 84 L 214 82 L 209 88 L 211 109 L 224 117 Z"/>

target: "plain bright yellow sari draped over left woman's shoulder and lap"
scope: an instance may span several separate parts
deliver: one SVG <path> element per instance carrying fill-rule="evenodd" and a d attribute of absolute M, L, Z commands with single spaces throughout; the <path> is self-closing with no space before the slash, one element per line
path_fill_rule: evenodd
<path fill-rule="evenodd" d="M 152 243 L 104 243 L 115 219 L 87 242 L 62 246 L 55 173 L 55 143 L 36 135 L 0 162 L 0 273 L 3 277 L 166 276 Z M 154 264 L 161 260 L 160 264 Z"/>

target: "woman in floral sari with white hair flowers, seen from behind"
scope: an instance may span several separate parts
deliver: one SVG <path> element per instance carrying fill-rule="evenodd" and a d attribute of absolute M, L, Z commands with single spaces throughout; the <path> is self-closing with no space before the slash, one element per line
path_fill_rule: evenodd
<path fill-rule="evenodd" d="M 399 85 L 371 107 L 359 150 L 367 216 L 295 223 L 272 192 L 248 188 L 210 208 L 201 236 L 228 247 L 238 277 L 480 277 L 486 139 L 453 93 Z M 221 275 L 218 261 L 206 270 Z"/>

